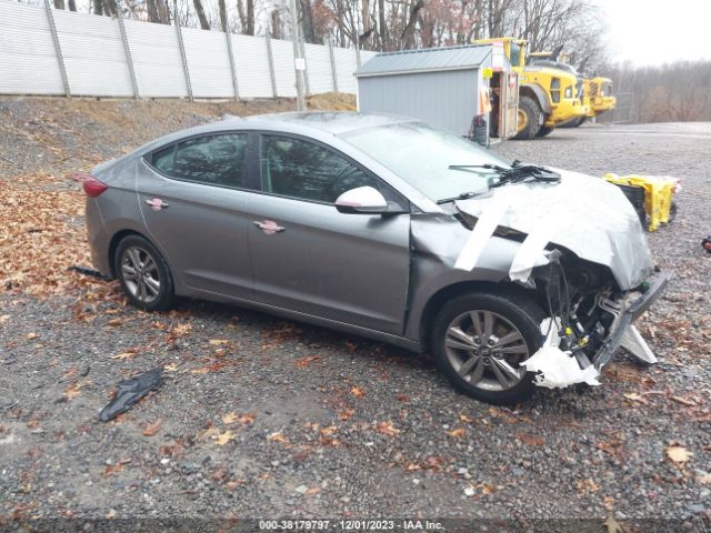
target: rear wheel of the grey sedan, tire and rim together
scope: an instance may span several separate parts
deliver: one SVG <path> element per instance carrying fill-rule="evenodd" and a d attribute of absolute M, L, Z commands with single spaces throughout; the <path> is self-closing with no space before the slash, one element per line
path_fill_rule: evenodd
<path fill-rule="evenodd" d="M 121 289 L 133 306 L 143 311 L 163 311 L 172 306 L 174 284 L 170 268 L 148 240 L 140 235 L 123 238 L 117 247 L 113 264 Z M 136 271 L 138 273 L 132 274 Z"/>

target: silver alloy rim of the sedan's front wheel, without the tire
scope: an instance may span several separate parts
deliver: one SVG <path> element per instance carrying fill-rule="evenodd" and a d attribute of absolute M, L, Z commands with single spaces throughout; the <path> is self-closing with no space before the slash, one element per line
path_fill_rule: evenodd
<path fill-rule="evenodd" d="M 504 391 L 525 376 L 519 363 L 529 358 L 521 332 L 498 313 L 473 310 L 450 322 L 444 351 L 459 376 L 485 391 Z"/>

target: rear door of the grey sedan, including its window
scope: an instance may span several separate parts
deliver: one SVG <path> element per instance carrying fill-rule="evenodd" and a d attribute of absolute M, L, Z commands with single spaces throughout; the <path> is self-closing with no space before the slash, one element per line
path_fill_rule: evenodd
<path fill-rule="evenodd" d="M 248 152 L 249 133 L 228 132 L 164 147 L 139 163 L 146 225 L 173 275 L 190 288 L 252 294 Z"/>

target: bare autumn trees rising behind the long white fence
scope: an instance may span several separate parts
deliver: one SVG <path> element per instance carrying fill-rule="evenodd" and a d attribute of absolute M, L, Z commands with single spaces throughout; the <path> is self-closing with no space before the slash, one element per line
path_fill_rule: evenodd
<path fill-rule="evenodd" d="M 28 0 L 24 0 L 28 1 Z M 39 0 L 29 0 L 37 2 Z M 288 0 L 51 0 L 57 9 L 289 38 Z M 67 3 L 66 3 L 67 2 Z M 512 36 L 562 47 L 583 70 L 605 60 L 605 22 L 585 0 L 297 0 L 306 42 L 392 51 Z"/>

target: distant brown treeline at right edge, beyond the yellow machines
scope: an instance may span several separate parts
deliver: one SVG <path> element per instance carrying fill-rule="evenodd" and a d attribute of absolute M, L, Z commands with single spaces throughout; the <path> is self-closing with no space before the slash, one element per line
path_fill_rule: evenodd
<path fill-rule="evenodd" d="M 623 122 L 711 121 L 711 61 L 661 67 L 619 64 L 608 69 L 618 94 L 614 120 Z"/>

